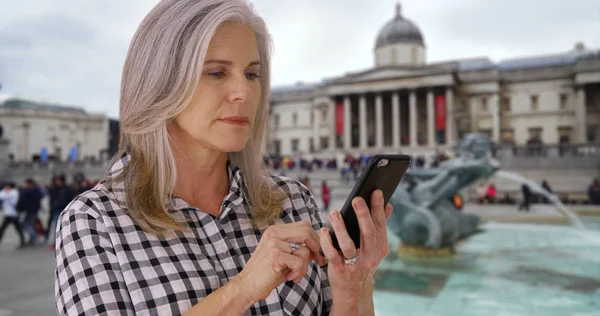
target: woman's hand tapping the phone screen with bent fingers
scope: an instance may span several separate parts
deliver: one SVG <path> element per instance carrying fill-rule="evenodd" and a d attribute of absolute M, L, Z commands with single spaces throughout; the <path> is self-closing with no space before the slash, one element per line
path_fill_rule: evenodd
<path fill-rule="evenodd" d="M 292 251 L 290 242 L 306 244 Z M 327 261 L 319 254 L 319 235 L 309 222 L 273 225 L 265 230 L 238 280 L 254 302 L 265 299 L 284 281 L 299 282 L 310 261 L 324 266 Z"/>

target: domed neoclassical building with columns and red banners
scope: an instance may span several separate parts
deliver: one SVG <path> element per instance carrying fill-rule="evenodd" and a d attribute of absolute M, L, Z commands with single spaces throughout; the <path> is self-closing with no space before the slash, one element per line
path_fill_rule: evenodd
<path fill-rule="evenodd" d="M 498 144 L 600 139 L 600 51 L 578 43 L 497 63 L 428 63 L 425 43 L 398 4 L 376 37 L 374 67 L 274 87 L 269 153 L 433 150 L 469 132 Z"/>

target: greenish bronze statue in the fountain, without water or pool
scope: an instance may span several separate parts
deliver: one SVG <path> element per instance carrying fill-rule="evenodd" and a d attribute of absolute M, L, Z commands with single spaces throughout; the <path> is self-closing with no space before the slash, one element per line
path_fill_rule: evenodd
<path fill-rule="evenodd" d="M 490 141 L 469 134 L 457 146 L 458 157 L 433 169 L 409 169 L 392 196 L 394 207 L 388 229 L 405 246 L 449 249 L 478 232 L 477 215 L 462 214 L 452 202 L 460 190 L 499 169 L 490 157 Z"/>

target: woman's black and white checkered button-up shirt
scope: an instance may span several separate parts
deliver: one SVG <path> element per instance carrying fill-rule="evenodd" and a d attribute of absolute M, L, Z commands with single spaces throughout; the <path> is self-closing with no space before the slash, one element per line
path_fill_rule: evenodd
<path fill-rule="evenodd" d="M 128 162 L 124 155 L 108 177 Z M 175 198 L 172 213 L 191 228 L 175 237 L 159 238 L 133 223 L 119 207 L 122 183 L 109 187 L 105 179 L 73 200 L 57 225 L 59 315 L 180 315 L 242 271 L 266 227 L 250 223 L 241 171 L 232 163 L 227 169 L 230 190 L 219 217 Z M 305 186 L 272 179 L 289 196 L 276 224 L 324 226 Z M 245 315 L 323 315 L 330 309 L 326 271 L 312 262 L 300 283 L 281 284 Z"/>

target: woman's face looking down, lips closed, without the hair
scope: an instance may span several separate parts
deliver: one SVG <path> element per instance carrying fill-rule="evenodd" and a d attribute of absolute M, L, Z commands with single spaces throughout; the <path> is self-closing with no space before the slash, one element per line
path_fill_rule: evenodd
<path fill-rule="evenodd" d="M 193 99 L 171 127 L 186 141 L 221 152 L 241 151 L 260 102 L 260 67 L 254 31 L 222 25 L 208 47 Z"/>

